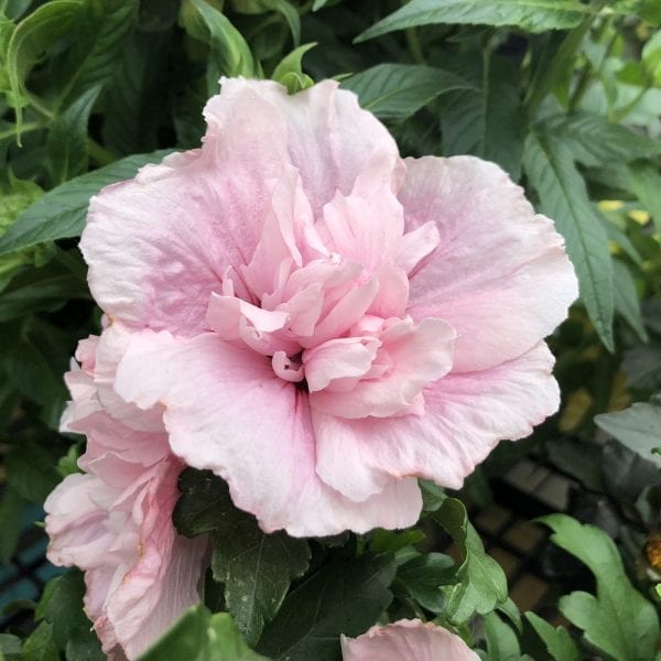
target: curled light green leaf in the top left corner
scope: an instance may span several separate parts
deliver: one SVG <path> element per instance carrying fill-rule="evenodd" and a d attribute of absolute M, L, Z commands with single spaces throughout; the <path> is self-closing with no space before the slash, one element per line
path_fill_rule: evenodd
<path fill-rule="evenodd" d="M 69 33 L 83 0 L 53 0 L 23 19 L 9 40 L 7 71 L 17 113 L 17 128 L 22 127 L 22 106 L 26 104 L 25 78 L 37 58 L 55 42 Z"/>

